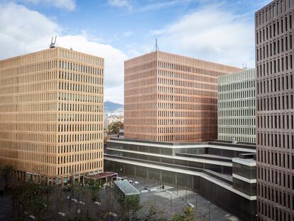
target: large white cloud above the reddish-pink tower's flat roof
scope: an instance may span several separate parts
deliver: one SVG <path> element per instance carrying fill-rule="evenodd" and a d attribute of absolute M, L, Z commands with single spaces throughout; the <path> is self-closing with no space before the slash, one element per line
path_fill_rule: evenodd
<path fill-rule="evenodd" d="M 158 36 L 160 49 L 241 67 L 254 67 L 254 23 L 226 11 L 222 6 L 206 6 L 180 18 Z"/>

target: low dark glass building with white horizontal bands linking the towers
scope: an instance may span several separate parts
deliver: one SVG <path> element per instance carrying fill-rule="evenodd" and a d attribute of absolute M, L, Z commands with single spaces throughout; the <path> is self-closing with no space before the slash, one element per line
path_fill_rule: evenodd
<path fill-rule="evenodd" d="M 244 221 L 256 220 L 256 146 L 109 139 L 105 169 L 188 188 Z M 175 190 L 174 190 L 175 191 Z M 192 200 L 194 204 L 195 200 Z"/>

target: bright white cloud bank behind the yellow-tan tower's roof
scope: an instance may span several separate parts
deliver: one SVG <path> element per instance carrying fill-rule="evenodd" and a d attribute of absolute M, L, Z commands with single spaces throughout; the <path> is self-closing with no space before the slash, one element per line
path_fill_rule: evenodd
<path fill-rule="evenodd" d="M 123 103 L 124 60 L 128 57 L 121 50 L 94 41 L 85 32 L 65 35 L 58 23 L 17 4 L 0 4 L 0 30 L 0 59 L 48 48 L 55 35 L 60 47 L 105 58 L 105 99 Z"/>

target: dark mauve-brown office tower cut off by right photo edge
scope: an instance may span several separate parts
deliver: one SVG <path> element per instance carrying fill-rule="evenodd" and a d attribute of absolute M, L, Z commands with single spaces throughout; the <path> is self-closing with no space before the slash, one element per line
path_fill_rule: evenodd
<path fill-rule="evenodd" d="M 259 220 L 294 220 L 294 1 L 256 17 L 256 147 Z"/>

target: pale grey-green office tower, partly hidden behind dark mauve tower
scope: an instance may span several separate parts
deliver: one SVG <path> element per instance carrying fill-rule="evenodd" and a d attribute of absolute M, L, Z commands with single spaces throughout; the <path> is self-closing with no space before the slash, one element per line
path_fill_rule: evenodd
<path fill-rule="evenodd" d="M 218 139 L 255 143 L 255 70 L 217 79 Z"/>

